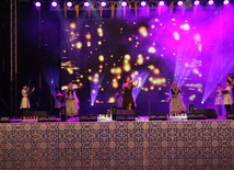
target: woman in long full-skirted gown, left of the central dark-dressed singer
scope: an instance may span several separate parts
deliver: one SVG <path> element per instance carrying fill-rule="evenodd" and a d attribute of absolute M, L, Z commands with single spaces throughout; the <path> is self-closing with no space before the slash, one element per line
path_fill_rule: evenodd
<path fill-rule="evenodd" d="M 72 82 L 68 84 L 68 89 L 65 92 L 66 98 L 66 116 L 71 117 L 79 114 L 79 99 L 75 94 L 75 90 L 72 87 Z"/>

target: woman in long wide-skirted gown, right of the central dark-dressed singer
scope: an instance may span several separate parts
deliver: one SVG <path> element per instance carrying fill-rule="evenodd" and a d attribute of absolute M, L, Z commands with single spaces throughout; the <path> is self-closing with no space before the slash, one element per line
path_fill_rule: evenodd
<path fill-rule="evenodd" d="M 182 89 L 177 87 L 176 82 L 173 83 L 171 95 L 169 115 L 185 112 L 187 109 L 183 102 Z"/>

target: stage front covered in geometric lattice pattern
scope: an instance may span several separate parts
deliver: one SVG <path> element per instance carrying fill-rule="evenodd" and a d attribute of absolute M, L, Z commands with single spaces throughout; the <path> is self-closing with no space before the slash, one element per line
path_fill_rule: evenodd
<path fill-rule="evenodd" d="M 233 169 L 234 121 L 1 123 L 2 169 Z"/>

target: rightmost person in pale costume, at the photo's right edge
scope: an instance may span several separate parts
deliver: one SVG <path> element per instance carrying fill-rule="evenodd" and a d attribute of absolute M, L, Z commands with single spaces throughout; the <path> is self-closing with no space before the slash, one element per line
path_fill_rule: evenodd
<path fill-rule="evenodd" d="M 227 114 L 232 113 L 232 109 L 231 109 L 231 105 L 233 103 L 232 101 L 232 98 L 231 98 L 231 81 L 230 80 L 226 80 L 226 88 L 225 90 L 223 90 L 222 88 L 220 88 L 220 90 L 222 91 L 222 93 L 224 93 L 224 97 L 223 97 L 223 104 L 225 105 L 225 110 L 226 110 L 226 116 Z"/>

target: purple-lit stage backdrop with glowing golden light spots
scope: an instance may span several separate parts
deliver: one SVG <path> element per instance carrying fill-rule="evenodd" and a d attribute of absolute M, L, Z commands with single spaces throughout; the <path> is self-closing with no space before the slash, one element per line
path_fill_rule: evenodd
<path fill-rule="evenodd" d="M 186 105 L 213 107 L 211 92 L 225 82 L 233 65 L 231 35 L 225 33 L 233 25 L 224 22 L 233 12 L 225 10 L 171 14 L 165 7 L 161 14 L 142 10 L 138 16 L 62 19 L 62 89 L 73 82 L 81 112 L 87 113 L 114 103 L 126 76 L 143 73 L 133 90 L 138 114 L 168 113 L 173 81 L 182 87 Z"/>

